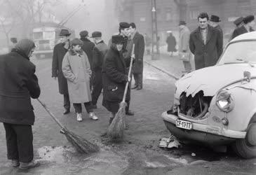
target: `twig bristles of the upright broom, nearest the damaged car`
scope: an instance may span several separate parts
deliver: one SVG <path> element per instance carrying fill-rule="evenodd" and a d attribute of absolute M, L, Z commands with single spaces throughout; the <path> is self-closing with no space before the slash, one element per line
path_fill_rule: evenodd
<path fill-rule="evenodd" d="M 112 139 L 123 138 L 123 130 L 126 127 L 126 106 L 126 102 L 120 103 L 119 111 L 107 129 L 107 135 Z"/>

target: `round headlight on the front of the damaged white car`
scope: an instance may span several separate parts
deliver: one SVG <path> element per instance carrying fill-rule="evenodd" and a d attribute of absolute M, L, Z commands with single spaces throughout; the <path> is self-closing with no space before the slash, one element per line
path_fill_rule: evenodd
<path fill-rule="evenodd" d="M 234 109 L 234 100 L 229 92 L 222 90 L 217 94 L 216 105 L 221 111 L 228 113 Z"/>

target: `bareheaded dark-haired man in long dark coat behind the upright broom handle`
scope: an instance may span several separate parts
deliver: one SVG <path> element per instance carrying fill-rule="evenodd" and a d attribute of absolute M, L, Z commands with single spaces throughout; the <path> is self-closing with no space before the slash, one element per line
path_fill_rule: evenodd
<path fill-rule="evenodd" d="M 135 62 L 133 63 L 133 78 L 135 80 L 135 85 L 132 89 L 141 90 L 142 80 L 143 80 L 143 56 L 145 50 L 144 36 L 137 32 L 136 25 L 130 23 L 130 34 L 133 38 L 134 43 L 134 55 Z"/>

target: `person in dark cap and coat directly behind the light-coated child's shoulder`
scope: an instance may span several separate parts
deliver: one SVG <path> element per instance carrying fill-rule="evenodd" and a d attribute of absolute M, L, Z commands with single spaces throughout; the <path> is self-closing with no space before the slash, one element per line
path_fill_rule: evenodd
<path fill-rule="evenodd" d="M 90 62 L 90 67 L 93 67 L 93 48 L 95 44 L 89 40 L 88 31 L 81 31 L 79 35 L 81 41 L 83 41 L 82 50 L 83 52 L 86 52 L 86 55 Z M 93 77 L 94 73 L 92 73 L 92 77 L 90 78 L 90 90 L 92 90 L 93 87 Z"/>

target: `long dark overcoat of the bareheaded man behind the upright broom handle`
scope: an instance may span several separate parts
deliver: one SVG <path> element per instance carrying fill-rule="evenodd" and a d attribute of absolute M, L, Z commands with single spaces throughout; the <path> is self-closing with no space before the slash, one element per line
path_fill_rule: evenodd
<path fill-rule="evenodd" d="M 144 36 L 135 33 L 133 37 L 134 43 L 134 55 L 135 61 L 133 63 L 133 73 L 142 73 L 143 72 L 143 55 L 145 50 Z"/>

